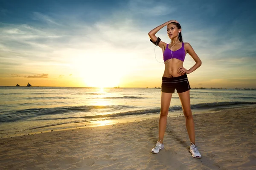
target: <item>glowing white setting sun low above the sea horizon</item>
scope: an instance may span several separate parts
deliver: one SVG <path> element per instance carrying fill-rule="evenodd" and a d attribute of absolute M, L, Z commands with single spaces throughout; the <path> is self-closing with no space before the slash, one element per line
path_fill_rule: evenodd
<path fill-rule="evenodd" d="M 111 51 L 105 51 L 103 59 L 99 51 L 91 54 L 80 51 L 74 56 L 76 59 L 72 61 L 72 65 L 79 75 L 77 79 L 81 80 L 84 87 L 118 87 L 122 77 L 129 71 L 127 65 L 116 62 L 120 59 L 120 54 L 113 54 Z"/>

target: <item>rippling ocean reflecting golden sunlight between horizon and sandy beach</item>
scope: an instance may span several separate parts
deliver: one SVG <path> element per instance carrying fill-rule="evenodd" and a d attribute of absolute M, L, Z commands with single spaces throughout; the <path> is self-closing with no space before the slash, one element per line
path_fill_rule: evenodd
<path fill-rule="evenodd" d="M 160 114 L 158 88 L 0 86 L 0 137 L 140 121 Z M 193 113 L 256 104 L 256 90 L 191 89 Z M 177 92 L 169 116 L 182 115 Z"/>

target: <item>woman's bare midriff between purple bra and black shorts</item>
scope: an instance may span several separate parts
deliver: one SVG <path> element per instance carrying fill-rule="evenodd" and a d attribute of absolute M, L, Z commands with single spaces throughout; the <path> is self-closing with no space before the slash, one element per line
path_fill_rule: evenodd
<path fill-rule="evenodd" d="M 175 59 L 175 58 L 166 60 L 163 77 L 182 76 L 182 75 L 178 74 L 178 69 L 180 67 L 183 67 L 183 61 L 181 61 L 179 59 Z"/>

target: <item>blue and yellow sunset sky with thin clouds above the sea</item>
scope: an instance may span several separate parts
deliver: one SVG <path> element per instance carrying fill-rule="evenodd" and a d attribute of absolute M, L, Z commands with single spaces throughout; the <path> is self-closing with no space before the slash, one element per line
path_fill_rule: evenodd
<path fill-rule="evenodd" d="M 159 87 L 148 32 L 169 20 L 202 61 L 192 88 L 256 88 L 256 4 L 249 0 L 0 0 L 0 85 Z M 166 27 L 156 34 L 170 42 Z M 159 62 L 157 62 L 157 60 Z M 189 54 L 183 63 L 195 61 Z"/>

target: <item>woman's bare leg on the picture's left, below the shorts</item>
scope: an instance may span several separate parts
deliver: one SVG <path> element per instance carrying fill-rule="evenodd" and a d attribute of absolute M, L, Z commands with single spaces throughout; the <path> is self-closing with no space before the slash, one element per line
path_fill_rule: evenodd
<path fill-rule="evenodd" d="M 161 93 L 161 112 L 158 125 L 158 141 L 160 143 L 163 143 L 163 136 L 166 130 L 167 115 L 169 113 L 171 99 L 172 93 Z"/>

